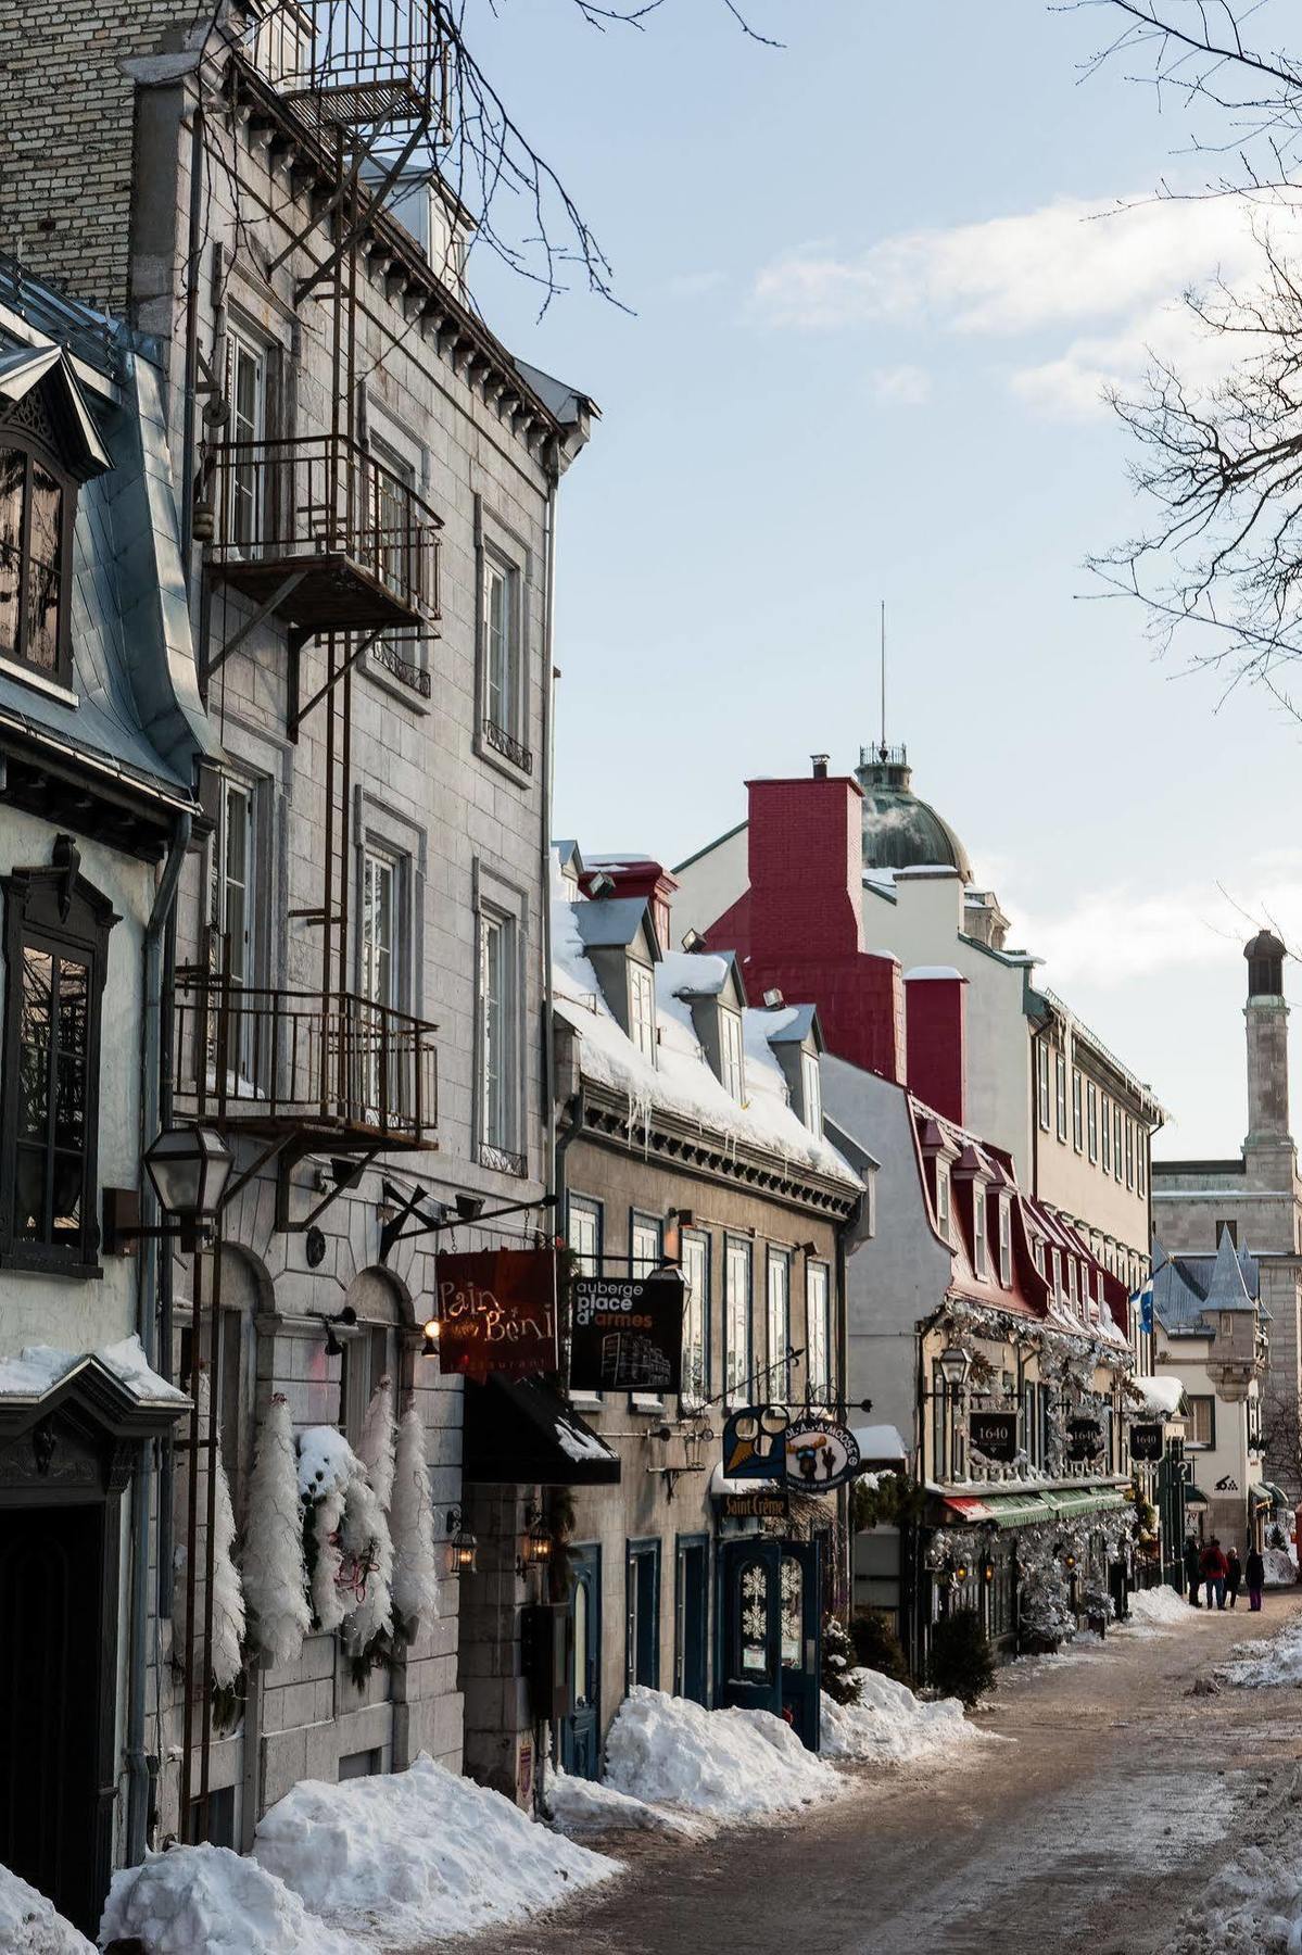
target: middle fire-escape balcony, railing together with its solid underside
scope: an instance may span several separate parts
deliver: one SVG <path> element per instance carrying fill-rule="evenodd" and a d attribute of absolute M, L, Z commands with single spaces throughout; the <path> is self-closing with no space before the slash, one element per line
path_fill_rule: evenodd
<path fill-rule="evenodd" d="M 342 434 L 221 442 L 211 561 L 311 630 L 424 630 L 438 620 L 440 518 Z"/>

